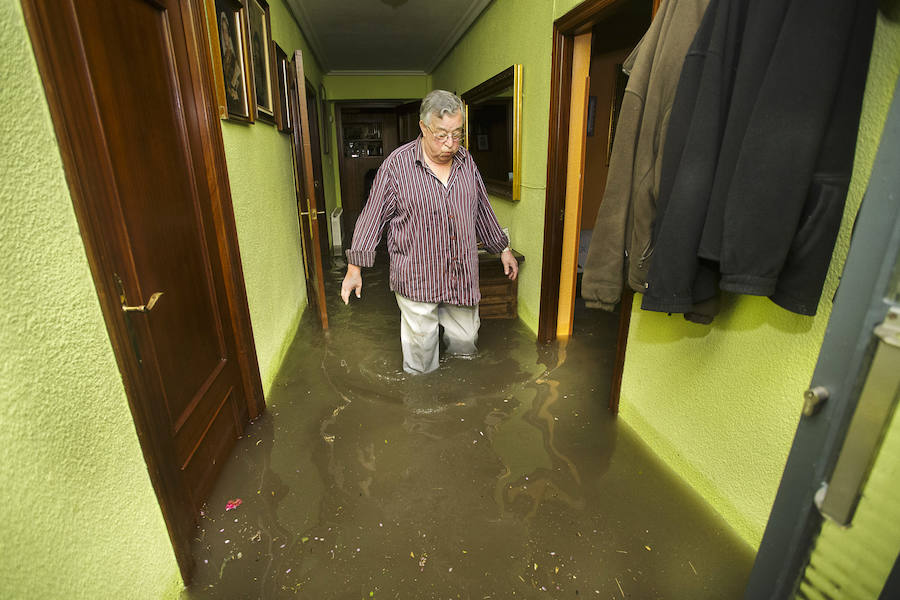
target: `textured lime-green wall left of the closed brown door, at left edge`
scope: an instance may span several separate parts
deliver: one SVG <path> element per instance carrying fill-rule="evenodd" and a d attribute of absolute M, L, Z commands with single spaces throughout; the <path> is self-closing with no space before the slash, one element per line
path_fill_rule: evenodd
<path fill-rule="evenodd" d="M 159 598 L 178 568 L 18 2 L 0 49 L 0 596 Z"/>

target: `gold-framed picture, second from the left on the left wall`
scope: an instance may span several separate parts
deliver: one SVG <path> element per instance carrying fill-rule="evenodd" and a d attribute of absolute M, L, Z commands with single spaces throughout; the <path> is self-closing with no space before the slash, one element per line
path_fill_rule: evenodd
<path fill-rule="evenodd" d="M 273 92 L 275 57 L 272 23 L 266 0 L 247 0 L 247 39 L 256 118 L 275 124 L 276 97 Z"/>

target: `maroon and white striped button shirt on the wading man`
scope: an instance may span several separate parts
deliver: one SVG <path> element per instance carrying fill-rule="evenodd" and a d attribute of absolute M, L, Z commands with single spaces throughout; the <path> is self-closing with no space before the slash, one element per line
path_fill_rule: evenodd
<path fill-rule="evenodd" d="M 508 240 L 472 156 L 464 148 L 456 152 L 445 187 L 425 164 L 421 141 L 400 146 L 381 164 L 347 260 L 371 267 L 386 228 L 393 291 L 418 302 L 475 306 L 481 300 L 476 238 L 495 253 Z"/>

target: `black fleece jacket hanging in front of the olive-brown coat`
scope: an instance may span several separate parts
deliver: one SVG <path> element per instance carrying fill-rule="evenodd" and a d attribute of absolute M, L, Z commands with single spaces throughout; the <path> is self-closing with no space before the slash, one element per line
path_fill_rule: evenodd
<path fill-rule="evenodd" d="M 713 0 L 685 58 L 642 308 L 726 291 L 814 315 L 840 229 L 874 0 Z"/>

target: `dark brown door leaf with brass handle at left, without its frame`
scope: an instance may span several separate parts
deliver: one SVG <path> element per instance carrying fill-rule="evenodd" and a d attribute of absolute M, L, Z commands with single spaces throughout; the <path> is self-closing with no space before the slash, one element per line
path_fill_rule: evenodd
<path fill-rule="evenodd" d="M 230 449 L 214 434 L 232 442 L 240 434 L 234 407 L 227 411 L 231 427 L 211 427 L 240 385 L 240 373 L 233 334 L 227 343 L 224 335 L 221 316 L 228 309 L 214 282 L 221 269 L 207 247 L 210 191 L 197 176 L 202 159 L 197 164 L 190 144 L 199 133 L 191 131 L 182 109 L 185 86 L 175 59 L 187 54 L 183 25 L 177 3 L 169 4 L 78 3 L 76 11 L 115 181 L 110 200 L 127 238 L 130 264 L 120 268 L 134 291 L 126 297 L 140 304 L 139 298 L 163 293 L 152 313 L 126 318 L 140 321 L 134 325 L 143 330 L 144 368 L 158 378 L 179 466 L 184 469 L 201 446 L 223 452 L 202 453 L 213 460 L 185 478 L 199 510 L 211 472 Z"/>

